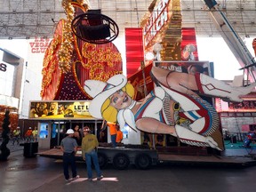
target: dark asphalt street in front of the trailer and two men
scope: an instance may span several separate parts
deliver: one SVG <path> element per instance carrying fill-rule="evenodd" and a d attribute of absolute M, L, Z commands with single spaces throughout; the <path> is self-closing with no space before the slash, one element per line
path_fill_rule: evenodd
<path fill-rule="evenodd" d="M 256 166 L 158 164 L 146 171 L 132 165 L 120 171 L 108 165 L 102 170 L 103 180 L 89 181 L 86 166 L 80 162 L 77 163 L 80 179 L 66 182 L 60 160 L 42 156 L 25 158 L 18 151 L 7 162 L 0 162 L 0 172 L 1 192 L 241 192 L 255 190 Z"/>

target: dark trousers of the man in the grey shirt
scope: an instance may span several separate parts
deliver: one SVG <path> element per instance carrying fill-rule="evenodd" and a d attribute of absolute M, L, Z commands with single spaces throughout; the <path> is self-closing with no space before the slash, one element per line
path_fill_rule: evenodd
<path fill-rule="evenodd" d="M 64 170 L 64 176 L 65 179 L 69 179 L 69 173 L 68 173 L 68 166 L 71 165 L 71 171 L 72 171 L 72 177 L 76 177 L 76 159 L 75 159 L 75 153 L 72 154 L 64 153 L 63 154 L 63 170 Z"/>

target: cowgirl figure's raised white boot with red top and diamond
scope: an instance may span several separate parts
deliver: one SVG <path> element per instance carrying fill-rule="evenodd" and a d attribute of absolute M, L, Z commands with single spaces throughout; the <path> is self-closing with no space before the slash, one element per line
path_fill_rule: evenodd
<path fill-rule="evenodd" d="M 252 83 L 245 87 L 233 87 L 211 76 L 204 74 L 196 74 L 195 76 L 201 94 L 220 97 L 227 102 L 242 102 L 240 96 L 252 92 L 252 89 L 256 86 L 256 83 Z"/>

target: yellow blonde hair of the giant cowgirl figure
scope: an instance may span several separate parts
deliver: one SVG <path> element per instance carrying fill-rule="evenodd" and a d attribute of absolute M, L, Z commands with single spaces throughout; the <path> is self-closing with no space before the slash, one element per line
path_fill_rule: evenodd
<path fill-rule="evenodd" d="M 123 92 L 126 92 L 133 99 L 134 87 L 132 86 L 132 84 L 127 83 L 121 90 Z M 102 104 L 102 106 L 100 108 L 100 111 L 103 116 L 103 119 L 105 119 L 108 122 L 115 123 L 117 121 L 118 110 L 116 108 L 114 108 L 113 106 L 110 106 L 111 97 L 112 97 L 112 95 L 110 97 L 108 97 L 107 100 L 105 100 L 105 102 Z"/>

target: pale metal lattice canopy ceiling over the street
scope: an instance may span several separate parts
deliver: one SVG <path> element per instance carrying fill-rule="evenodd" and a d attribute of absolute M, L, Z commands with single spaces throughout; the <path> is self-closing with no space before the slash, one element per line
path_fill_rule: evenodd
<path fill-rule="evenodd" d="M 150 0 L 91 0 L 91 9 L 115 20 L 120 35 L 124 28 L 140 27 Z M 223 12 L 239 36 L 256 36 L 255 0 L 220 0 Z M 182 27 L 196 28 L 196 36 L 220 36 L 204 11 L 203 0 L 180 0 Z M 1 0 L 0 39 L 52 37 L 56 23 L 65 19 L 61 0 Z"/>

